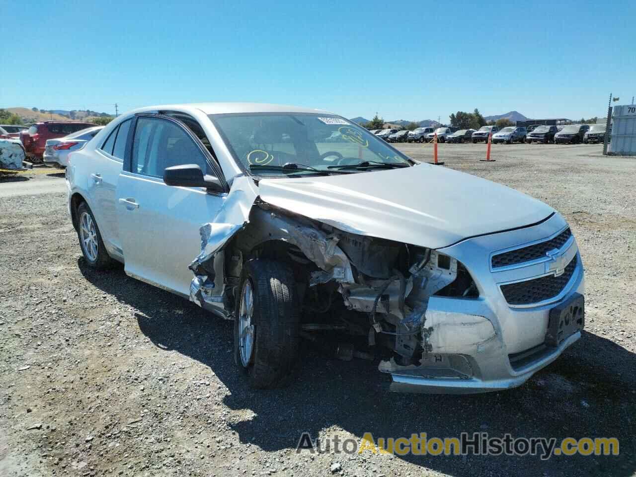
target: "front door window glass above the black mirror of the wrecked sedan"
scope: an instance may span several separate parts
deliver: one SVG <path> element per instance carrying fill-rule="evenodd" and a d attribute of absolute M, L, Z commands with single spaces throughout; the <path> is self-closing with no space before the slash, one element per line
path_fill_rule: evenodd
<path fill-rule="evenodd" d="M 182 127 L 168 120 L 139 118 L 132 145 L 132 172 L 163 177 L 166 167 L 197 164 L 209 174 L 205 155 Z"/>

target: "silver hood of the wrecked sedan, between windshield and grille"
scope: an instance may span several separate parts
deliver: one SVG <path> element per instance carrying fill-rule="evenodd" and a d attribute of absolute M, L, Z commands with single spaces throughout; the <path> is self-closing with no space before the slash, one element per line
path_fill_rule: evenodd
<path fill-rule="evenodd" d="M 539 222 L 554 210 L 501 184 L 445 167 L 262 179 L 262 200 L 340 230 L 441 248 Z"/>

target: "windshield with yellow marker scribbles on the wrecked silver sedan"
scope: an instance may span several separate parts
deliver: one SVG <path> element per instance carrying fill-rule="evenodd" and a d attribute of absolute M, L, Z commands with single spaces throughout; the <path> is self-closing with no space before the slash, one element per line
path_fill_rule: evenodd
<path fill-rule="evenodd" d="M 361 162 L 399 163 L 408 158 L 366 129 L 338 116 L 312 113 L 210 114 L 235 160 L 252 174 L 280 176 L 289 163 L 329 171 Z M 383 132 L 389 131 L 385 129 Z M 338 134 L 334 134 L 338 133 Z M 326 139 L 329 138 L 329 141 Z M 270 166 L 270 170 L 258 167 Z M 315 170 L 292 169 L 294 174 Z M 353 172 L 357 172 L 354 170 Z"/>

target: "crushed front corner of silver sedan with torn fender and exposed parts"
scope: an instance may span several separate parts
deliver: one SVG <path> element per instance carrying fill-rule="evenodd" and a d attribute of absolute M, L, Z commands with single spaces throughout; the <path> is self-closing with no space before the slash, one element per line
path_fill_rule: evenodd
<path fill-rule="evenodd" d="M 347 232 L 245 192 L 236 200 L 235 187 L 224 207 L 234 212 L 221 211 L 201 228 L 202 252 L 190 266 L 190 297 L 198 305 L 232 319 L 244 264 L 268 258 L 294 272 L 301 336 L 341 359 L 376 359 L 394 380 L 470 379 L 474 370 L 466 350 L 500 346 L 483 315 L 431 307 L 445 300 L 479 301 L 478 287 L 457 259 Z"/>

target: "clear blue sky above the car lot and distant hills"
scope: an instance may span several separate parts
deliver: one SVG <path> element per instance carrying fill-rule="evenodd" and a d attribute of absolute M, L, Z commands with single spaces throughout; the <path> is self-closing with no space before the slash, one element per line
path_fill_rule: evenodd
<path fill-rule="evenodd" d="M 604 116 L 636 94 L 636 2 L 0 0 L 0 107 L 254 101 L 344 116 Z M 10 39 L 10 41 L 8 41 Z M 13 45 L 13 46 L 11 46 Z"/>

